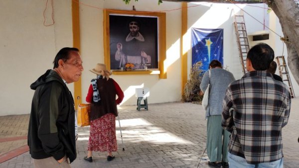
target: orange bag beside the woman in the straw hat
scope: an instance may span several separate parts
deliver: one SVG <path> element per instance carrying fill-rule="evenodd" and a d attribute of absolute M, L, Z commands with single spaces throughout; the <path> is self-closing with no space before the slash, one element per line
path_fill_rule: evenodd
<path fill-rule="evenodd" d="M 90 104 L 79 104 L 78 106 L 78 126 L 84 127 L 90 125 L 89 121 Z"/>

